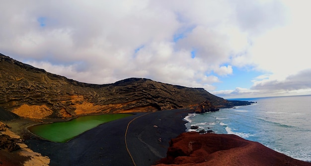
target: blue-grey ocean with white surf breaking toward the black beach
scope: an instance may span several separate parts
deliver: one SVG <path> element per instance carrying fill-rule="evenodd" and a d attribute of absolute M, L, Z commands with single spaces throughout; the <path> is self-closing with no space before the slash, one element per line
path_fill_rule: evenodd
<path fill-rule="evenodd" d="M 190 126 L 235 134 L 259 142 L 294 159 L 311 162 L 311 95 L 234 99 L 257 102 L 185 117 Z"/>

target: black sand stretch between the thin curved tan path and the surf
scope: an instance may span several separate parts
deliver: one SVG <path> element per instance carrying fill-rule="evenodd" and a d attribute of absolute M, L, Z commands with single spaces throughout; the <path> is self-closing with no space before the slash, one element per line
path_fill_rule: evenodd
<path fill-rule="evenodd" d="M 134 120 L 128 129 L 128 148 L 136 166 L 151 166 L 166 157 L 169 141 L 185 132 L 190 111 L 158 111 Z"/>

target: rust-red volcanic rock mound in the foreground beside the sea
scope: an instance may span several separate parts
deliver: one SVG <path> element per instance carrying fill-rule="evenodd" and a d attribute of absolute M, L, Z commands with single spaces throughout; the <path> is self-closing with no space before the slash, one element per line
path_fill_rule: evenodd
<path fill-rule="evenodd" d="M 156 166 L 311 166 L 231 134 L 182 133 Z"/>

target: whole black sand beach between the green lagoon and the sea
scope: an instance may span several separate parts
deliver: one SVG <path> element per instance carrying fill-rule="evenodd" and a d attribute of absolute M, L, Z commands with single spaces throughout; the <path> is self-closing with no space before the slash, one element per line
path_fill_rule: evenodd
<path fill-rule="evenodd" d="M 125 145 L 126 128 L 131 122 L 126 136 L 128 149 L 136 166 L 150 166 L 166 156 L 170 139 L 185 131 L 183 118 L 189 112 L 137 113 L 102 124 L 67 143 L 41 139 L 25 142 L 33 151 L 49 156 L 50 166 L 134 166 Z"/>

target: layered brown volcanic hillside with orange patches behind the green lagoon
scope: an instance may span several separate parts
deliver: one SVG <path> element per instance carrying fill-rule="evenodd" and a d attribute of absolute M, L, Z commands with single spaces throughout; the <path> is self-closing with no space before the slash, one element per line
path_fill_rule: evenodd
<path fill-rule="evenodd" d="M 204 89 L 129 78 L 113 84 L 81 83 L 0 54 L 0 107 L 18 116 L 66 118 L 96 112 L 159 111 L 209 101 L 217 108 L 233 102 Z"/>

